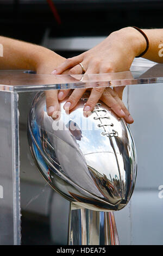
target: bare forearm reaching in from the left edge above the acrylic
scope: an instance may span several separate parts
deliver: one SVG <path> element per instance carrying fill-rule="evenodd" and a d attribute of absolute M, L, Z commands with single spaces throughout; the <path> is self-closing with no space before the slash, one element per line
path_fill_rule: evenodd
<path fill-rule="evenodd" d="M 45 47 L 28 42 L 0 36 L 0 44 L 3 45 L 3 57 L 0 57 L 0 69 L 30 69 L 37 71 L 42 63 L 46 65 L 46 62 L 49 63 L 52 60 L 53 70 L 55 66 L 58 66 L 65 60 L 65 58 Z M 49 69 L 49 66 L 47 68 Z M 49 70 L 49 74 L 52 70 Z"/>

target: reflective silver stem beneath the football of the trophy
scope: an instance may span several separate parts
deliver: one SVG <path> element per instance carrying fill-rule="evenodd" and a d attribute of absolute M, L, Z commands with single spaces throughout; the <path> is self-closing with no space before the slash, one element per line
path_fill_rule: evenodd
<path fill-rule="evenodd" d="M 120 245 L 113 212 L 72 209 L 68 245 Z"/>

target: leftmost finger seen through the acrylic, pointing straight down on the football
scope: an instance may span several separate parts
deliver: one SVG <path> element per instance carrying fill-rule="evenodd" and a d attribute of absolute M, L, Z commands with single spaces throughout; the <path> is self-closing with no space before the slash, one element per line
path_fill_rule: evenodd
<path fill-rule="evenodd" d="M 45 95 L 47 114 L 52 117 L 53 113 L 59 109 L 58 90 L 47 90 Z"/>

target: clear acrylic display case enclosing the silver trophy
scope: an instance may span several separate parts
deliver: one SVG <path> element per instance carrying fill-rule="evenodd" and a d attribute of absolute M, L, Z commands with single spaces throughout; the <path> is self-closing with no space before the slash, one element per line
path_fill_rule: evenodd
<path fill-rule="evenodd" d="M 121 245 L 162 245 L 163 65 L 135 59 L 130 71 L 87 76 L 0 71 L 0 244 L 66 245 L 70 203 L 47 185 L 29 151 L 27 118 L 40 90 L 126 86 L 137 149 L 136 186 L 115 212 Z"/>

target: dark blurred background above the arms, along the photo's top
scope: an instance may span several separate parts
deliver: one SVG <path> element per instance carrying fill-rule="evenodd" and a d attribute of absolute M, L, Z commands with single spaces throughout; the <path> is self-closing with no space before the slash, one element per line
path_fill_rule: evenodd
<path fill-rule="evenodd" d="M 0 0 L 0 4 L 1 35 L 44 45 L 64 57 L 95 46 L 123 27 L 162 26 L 162 0 Z"/>

